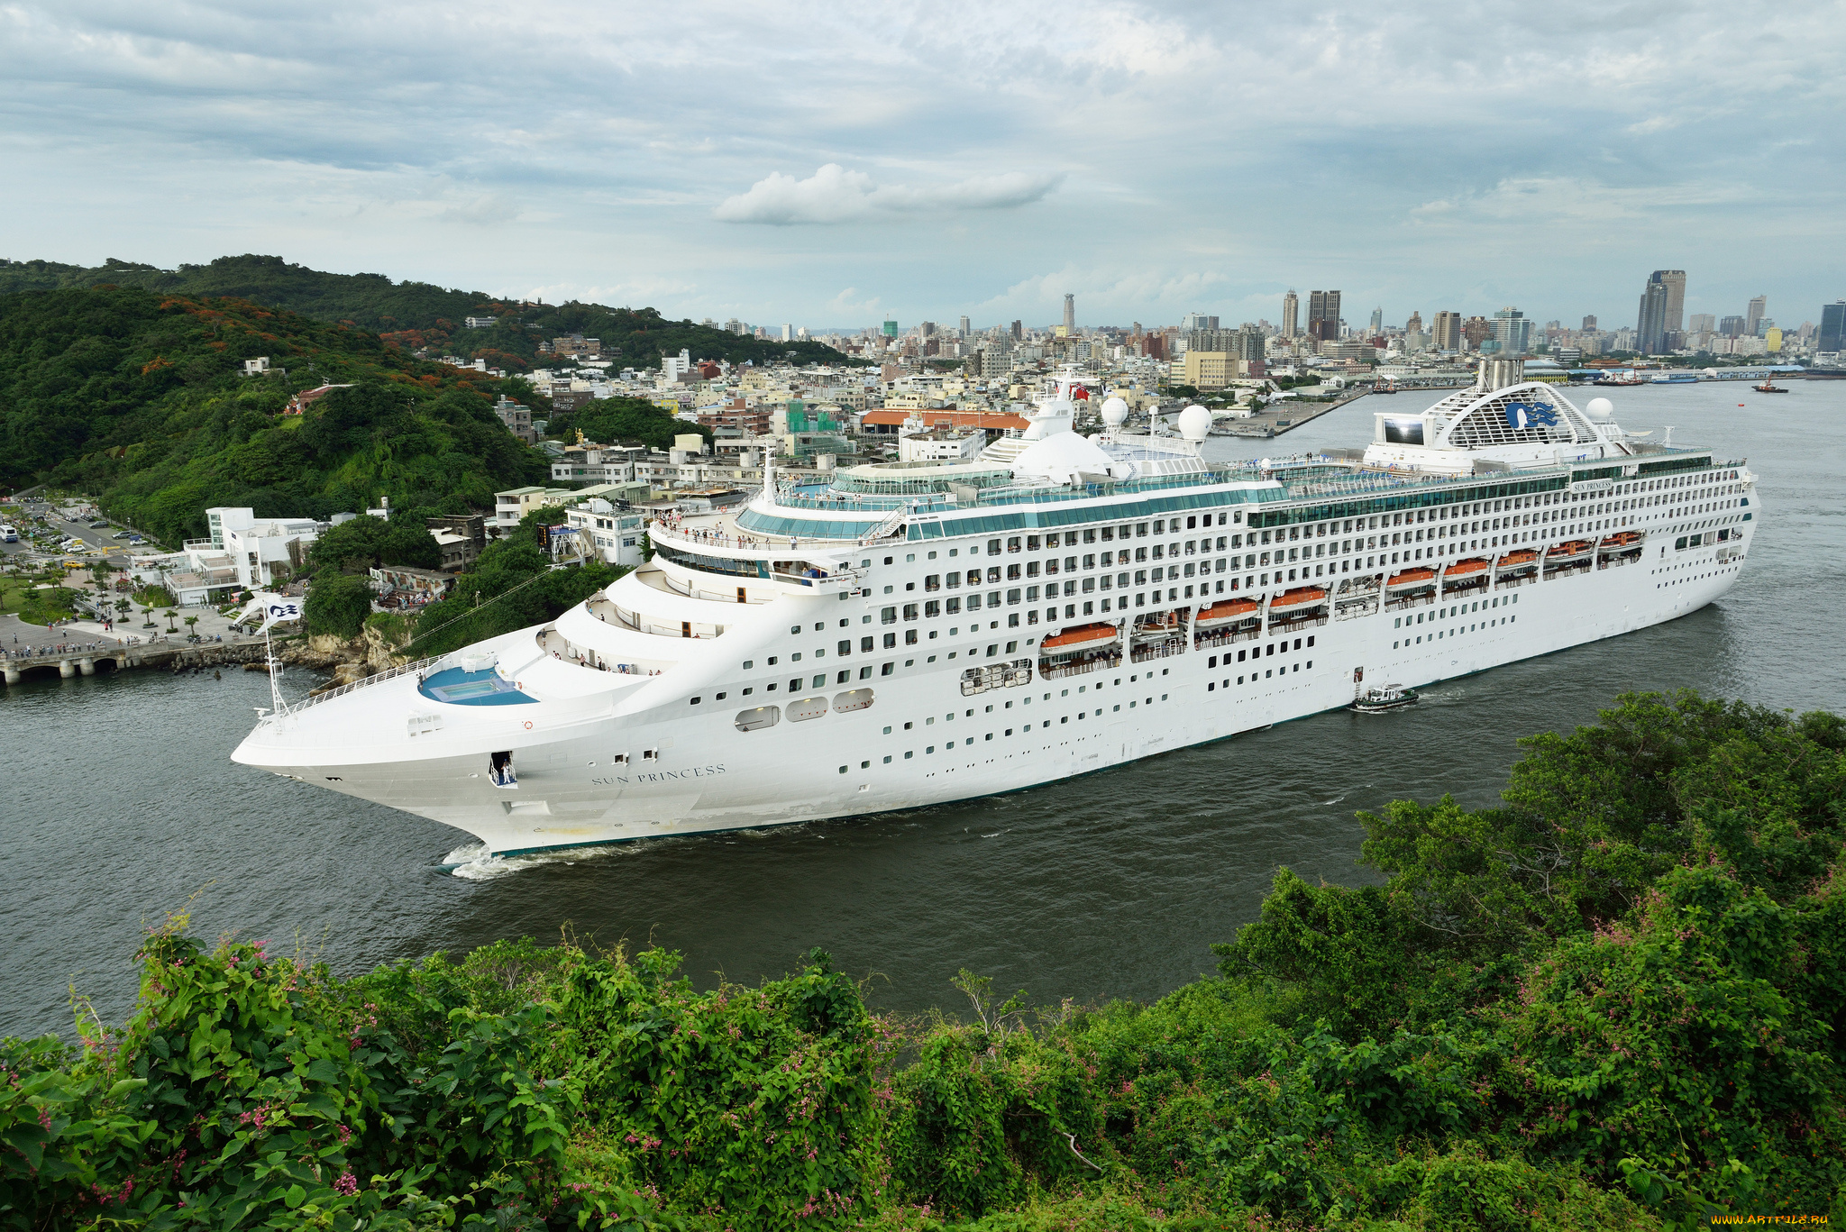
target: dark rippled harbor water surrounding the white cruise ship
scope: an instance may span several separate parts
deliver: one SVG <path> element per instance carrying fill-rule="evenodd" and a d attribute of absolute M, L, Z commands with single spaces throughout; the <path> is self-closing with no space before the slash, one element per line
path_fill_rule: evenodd
<path fill-rule="evenodd" d="M 72 992 L 118 1021 L 144 927 L 194 931 L 354 973 L 500 936 L 659 944 L 685 972 L 755 983 L 821 946 L 875 1007 L 953 1007 L 960 968 L 1034 1001 L 1150 999 L 1209 972 L 1277 866 L 1359 881 L 1359 809 L 1453 792 L 1490 805 L 1519 737 L 1569 730 L 1628 689 L 1804 709 L 1846 706 L 1846 382 L 1608 390 L 1628 430 L 1746 458 L 1765 521 L 1737 587 L 1684 619 L 1438 683 L 1388 715 L 1335 711 L 1089 778 L 967 803 L 504 863 L 436 822 L 233 765 L 268 680 L 124 672 L 0 696 L 0 1034 L 70 1034 Z M 1586 403 L 1597 390 L 1571 390 Z M 1272 441 L 1370 440 L 1364 397 Z M 290 670 L 299 696 L 314 678 Z"/>

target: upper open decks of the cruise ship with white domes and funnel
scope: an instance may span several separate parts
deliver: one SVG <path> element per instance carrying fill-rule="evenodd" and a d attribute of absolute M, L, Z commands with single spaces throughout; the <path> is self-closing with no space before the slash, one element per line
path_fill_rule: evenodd
<path fill-rule="evenodd" d="M 1106 403 L 1106 430 L 1084 438 L 1071 430 L 1071 403 L 1060 393 L 1025 436 L 995 441 L 980 458 L 868 464 L 827 482 L 772 475 L 735 517 L 737 539 L 714 547 L 827 550 L 1204 508 L 1229 508 L 1239 523 L 1268 521 L 1261 510 L 1277 504 L 1361 502 L 1377 512 L 1460 499 L 1434 493 L 1504 484 L 1508 475 L 1521 489 L 1551 488 L 1606 478 L 1610 464 L 1617 473 L 1682 469 L 1709 456 L 1630 436 L 1608 421 L 1608 406 L 1591 403 L 1586 414 L 1540 382 L 1456 390 L 1416 416 L 1381 412 L 1366 449 L 1261 462 L 1207 464 L 1204 408 L 1181 416 L 1183 440 L 1124 436 L 1124 414 L 1111 416 Z"/>

